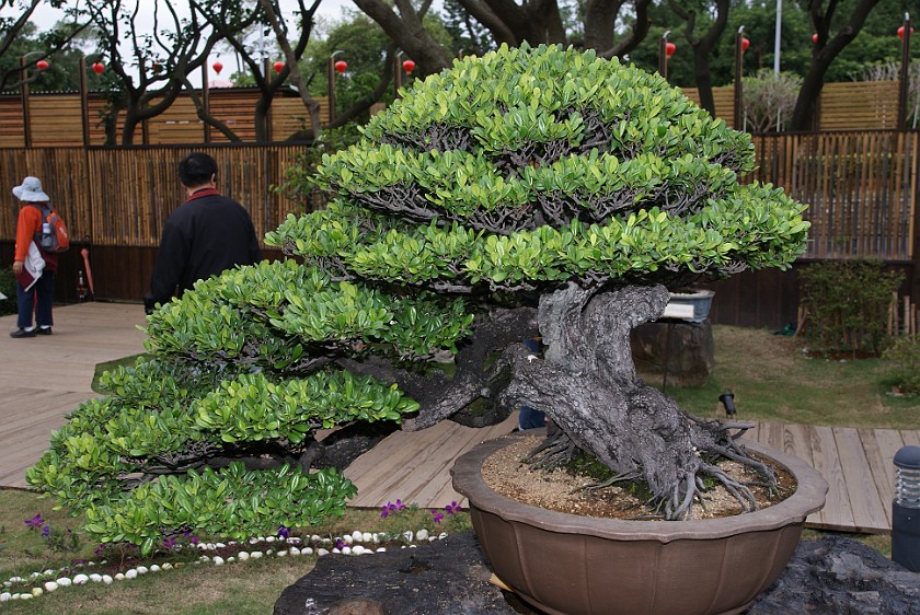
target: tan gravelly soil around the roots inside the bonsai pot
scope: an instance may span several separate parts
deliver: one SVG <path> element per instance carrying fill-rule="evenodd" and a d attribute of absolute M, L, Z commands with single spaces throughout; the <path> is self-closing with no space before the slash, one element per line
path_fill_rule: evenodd
<path fill-rule="evenodd" d="M 658 513 L 648 506 L 641 494 L 629 483 L 600 489 L 583 489 L 595 480 L 578 476 L 566 469 L 544 472 L 522 462 L 530 451 L 543 441 L 538 436 L 520 436 L 515 442 L 490 455 L 482 466 L 485 483 L 506 498 L 548 510 L 607 519 L 657 519 Z M 758 457 L 777 473 L 778 492 L 770 492 L 755 485 L 762 477 L 751 468 L 733 461 L 721 461 L 717 465 L 733 478 L 749 484 L 759 508 L 780 502 L 795 490 L 795 480 L 772 461 Z M 702 502 L 693 504 L 693 519 L 732 517 L 743 512 L 733 495 L 721 485 L 713 485 L 702 494 Z"/>

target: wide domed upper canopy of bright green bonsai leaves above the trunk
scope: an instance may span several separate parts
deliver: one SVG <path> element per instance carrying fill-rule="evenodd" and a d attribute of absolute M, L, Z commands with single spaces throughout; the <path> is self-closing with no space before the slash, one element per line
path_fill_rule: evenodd
<path fill-rule="evenodd" d="M 743 185 L 747 135 L 658 76 L 554 46 L 457 60 L 325 155 L 337 198 L 267 241 L 433 289 L 677 283 L 787 267 L 804 207 Z"/>

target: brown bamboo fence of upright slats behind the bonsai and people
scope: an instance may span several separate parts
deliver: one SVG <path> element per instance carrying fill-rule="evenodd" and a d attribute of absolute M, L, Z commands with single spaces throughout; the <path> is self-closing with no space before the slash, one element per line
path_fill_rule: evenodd
<path fill-rule="evenodd" d="M 917 131 L 848 131 L 755 137 L 757 170 L 745 181 L 785 188 L 809 204 L 812 259 L 875 257 L 911 263 L 918 219 Z M 0 148 L 0 194 L 42 178 L 74 241 L 156 246 L 184 199 L 175 173 L 192 146 Z M 195 146 L 218 161 L 220 189 L 250 211 L 262 236 L 303 204 L 277 189 L 304 144 Z M 10 197 L 10 201 L 12 201 Z M 0 208 L 0 241 L 15 237 L 16 208 Z"/>

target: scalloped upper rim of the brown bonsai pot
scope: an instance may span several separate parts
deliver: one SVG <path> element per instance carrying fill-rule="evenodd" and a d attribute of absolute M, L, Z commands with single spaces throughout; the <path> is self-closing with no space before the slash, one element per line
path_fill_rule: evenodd
<path fill-rule="evenodd" d="M 470 507 L 551 532 L 585 534 L 619 541 L 658 541 L 681 538 L 713 539 L 748 532 L 772 531 L 803 523 L 825 504 L 828 485 L 824 476 L 798 457 L 759 442 L 741 439 L 747 449 L 767 456 L 786 469 L 796 481 L 793 495 L 769 508 L 718 519 L 689 521 L 626 521 L 556 512 L 525 504 L 493 491 L 482 477 L 482 464 L 492 453 L 508 445 L 518 433 L 488 440 L 457 459 L 450 474 L 453 488 L 470 500 Z"/>

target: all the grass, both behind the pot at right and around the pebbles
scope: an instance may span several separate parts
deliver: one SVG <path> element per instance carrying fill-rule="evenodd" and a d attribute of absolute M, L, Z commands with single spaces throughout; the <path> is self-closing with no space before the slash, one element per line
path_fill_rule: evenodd
<path fill-rule="evenodd" d="M 716 364 L 709 383 L 701 387 L 668 386 L 668 395 L 690 411 L 704 417 L 724 417 L 718 396 L 725 390 L 735 395 L 739 419 L 760 419 L 846 427 L 920 429 L 920 397 L 887 395 L 888 364 L 882 359 L 825 360 L 808 357 L 807 341 L 775 336 L 768 330 L 715 326 Z M 134 364 L 128 357 L 100 365 L 96 374 L 117 364 Z M 643 374 L 660 385 L 660 374 Z M 12 576 L 57 569 L 79 559 L 92 559 L 93 547 L 80 533 L 82 520 L 54 511 L 54 502 L 35 494 L 0 490 L 0 583 Z M 54 552 L 39 532 L 24 521 L 41 513 L 55 531 L 71 529 L 81 543 L 72 552 Z M 378 510 L 348 509 L 345 518 L 322 527 L 303 530 L 325 536 L 363 532 L 415 530 L 430 515 L 407 509 L 381 519 Z M 469 526 L 461 513 L 448 518 L 453 530 Z M 806 531 L 813 538 L 821 533 Z M 853 536 L 890 554 L 888 535 Z M 217 567 L 188 565 L 181 569 L 143 575 L 112 585 L 90 583 L 60 589 L 25 602 L 0 604 L 0 614 L 57 615 L 159 614 L 207 615 L 218 613 L 267 613 L 281 591 L 309 572 L 315 556 L 265 558 Z M 3 589 L 0 589 L 2 592 Z M 165 601 L 165 602 L 164 602 Z"/>

